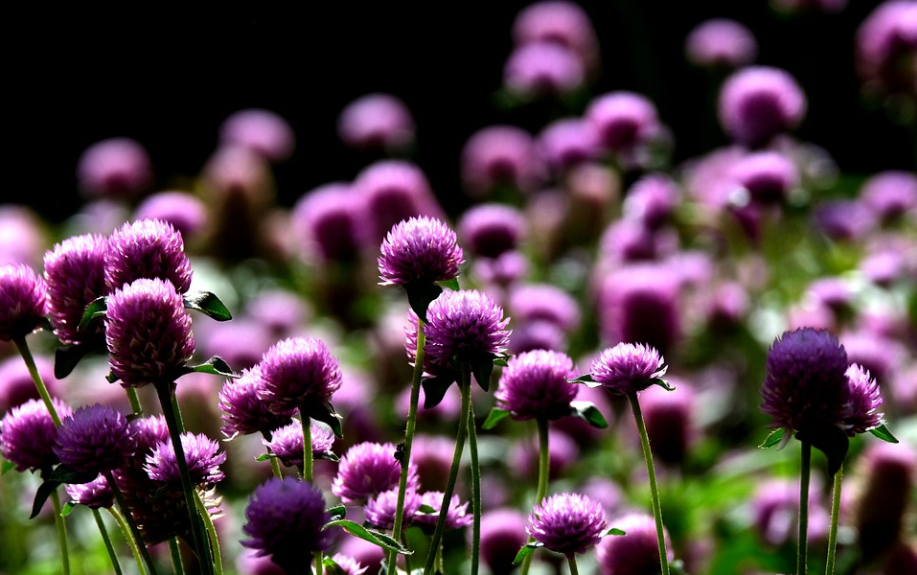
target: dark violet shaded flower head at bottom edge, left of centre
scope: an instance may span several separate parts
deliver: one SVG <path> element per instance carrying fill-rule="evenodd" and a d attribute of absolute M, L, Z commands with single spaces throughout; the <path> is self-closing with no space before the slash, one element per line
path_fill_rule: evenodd
<path fill-rule="evenodd" d="M 270 479 L 258 486 L 245 507 L 242 545 L 271 559 L 286 573 L 301 573 L 308 553 L 327 551 L 331 520 L 317 487 L 298 479 Z"/>

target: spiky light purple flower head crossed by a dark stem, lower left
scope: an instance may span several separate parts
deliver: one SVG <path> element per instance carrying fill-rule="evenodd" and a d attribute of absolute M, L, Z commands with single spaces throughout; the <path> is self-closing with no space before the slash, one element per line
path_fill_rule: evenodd
<path fill-rule="evenodd" d="M 223 481 L 226 475 L 220 470 L 220 465 L 226 461 L 226 453 L 220 451 L 216 441 L 203 434 L 183 433 L 181 446 L 191 483 L 207 489 Z M 171 441 L 163 441 L 146 456 L 144 469 L 153 481 L 172 485 L 181 482 Z"/>

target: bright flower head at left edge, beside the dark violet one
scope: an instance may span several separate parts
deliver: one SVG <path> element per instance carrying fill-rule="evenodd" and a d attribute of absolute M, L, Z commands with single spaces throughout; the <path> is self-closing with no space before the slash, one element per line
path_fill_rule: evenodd
<path fill-rule="evenodd" d="M 70 406 L 51 400 L 60 417 L 70 415 Z M 16 471 L 50 471 L 59 461 L 54 451 L 57 428 L 48 408 L 39 399 L 14 407 L 0 421 L 0 453 L 16 465 Z"/>

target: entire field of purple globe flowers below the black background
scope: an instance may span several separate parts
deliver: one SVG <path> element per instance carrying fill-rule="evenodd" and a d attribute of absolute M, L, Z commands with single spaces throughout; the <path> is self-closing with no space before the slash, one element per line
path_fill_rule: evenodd
<path fill-rule="evenodd" d="M 909 0 L 862 23 L 864 94 L 917 102 L 915 23 Z M 513 39 L 501 101 L 570 114 L 601 69 L 587 14 L 533 4 Z M 34 496 L 33 517 L 51 500 L 63 571 L 76 548 L 65 517 L 83 506 L 118 573 L 101 510 L 142 573 L 163 568 L 160 543 L 173 568 L 202 573 L 231 559 L 240 573 L 525 575 L 565 561 L 719 575 L 788 572 L 795 558 L 801 575 L 810 544 L 827 572 L 911 572 L 917 176 L 872 174 L 837 199 L 827 152 L 791 135 L 802 86 L 754 64 L 749 29 L 708 21 L 685 50 L 720 72 L 727 146 L 672 166 L 675 135 L 623 90 L 536 136 L 488 126 L 462 152 L 472 206 L 455 226 L 403 159 L 415 126 L 388 94 L 352 102 L 338 125 L 382 159 L 292 209 L 274 201 L 271 166 L 294 133 L 265 110 L 224 123 L 194 193 L 146 195 L 139 144 L 93 146 L 78 169 L 86 206 L 67 223 L 78 231 L 51 249 L 0 208 L 0 239 L 15 238 L 0 244 L 0 454 L 5 472 L 41 479 L 10 484 Z M 192 290 L 186 246 L 195 281 L 240 308 L 233 321 Z M 193 313 L 220 321 L 192 333 Z M 116 382 L 126 400 L 108 393 Z M 506 418 L 528 424 L 498 431 Z M 864 433 L 886 443 L 861 447 Z M 798 443 L 798 468 L 749 449 L 762 439 Z M 848 461 L 856 489 L 842 500 Z M 32 562 L 0 553 L 0 570 Z"/>

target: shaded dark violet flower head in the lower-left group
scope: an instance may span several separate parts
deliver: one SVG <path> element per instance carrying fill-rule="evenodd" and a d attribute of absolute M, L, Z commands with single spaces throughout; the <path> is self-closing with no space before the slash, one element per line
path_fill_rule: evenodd
<path fill-rule="evenodd" d="M 63 420 L 54 453 L 82 473 L 107 473 L 124 465 L 137 450 L 127 418 L 104 405 L 81 407 Z"/>

